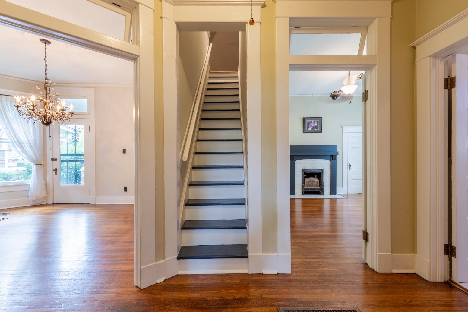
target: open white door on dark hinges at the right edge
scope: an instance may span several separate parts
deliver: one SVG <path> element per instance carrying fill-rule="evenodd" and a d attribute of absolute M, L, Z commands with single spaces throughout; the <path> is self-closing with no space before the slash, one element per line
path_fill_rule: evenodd
<path fill-rule="evenodd" d="M 452 56 L 452 280 L 468 282 L 468 55 Z"/>

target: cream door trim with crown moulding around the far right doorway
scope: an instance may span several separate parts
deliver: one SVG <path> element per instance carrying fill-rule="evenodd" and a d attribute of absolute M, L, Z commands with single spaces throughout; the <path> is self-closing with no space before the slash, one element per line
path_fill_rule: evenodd
<path fill-rule="evenodd" d="M 416 47 L 416 273 L 448 279 L 445 59 L 468 47 L 468 9 L 411 44 Z M 435 127 L 432 125 L 436 125 Z"/>

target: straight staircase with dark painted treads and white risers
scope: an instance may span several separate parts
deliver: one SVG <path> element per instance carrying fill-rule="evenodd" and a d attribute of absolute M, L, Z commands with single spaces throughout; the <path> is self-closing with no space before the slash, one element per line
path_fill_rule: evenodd
<path fill-rule="evenodd" d="M 248 272 L 237 72 L 210 72 L 185 202 L 179 274 Z"/>

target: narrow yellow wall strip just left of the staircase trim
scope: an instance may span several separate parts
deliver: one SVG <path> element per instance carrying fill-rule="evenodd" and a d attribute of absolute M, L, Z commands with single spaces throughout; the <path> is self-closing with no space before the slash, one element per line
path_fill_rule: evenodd
<path fill-rule="evenodd" d="M 154 1 L 154 145 L 156 146 L 156 261 L 164 259 L 164 136 L 162 109 L 162 2 Z M 144 129 L 142 129 L 144 131 Z"/>

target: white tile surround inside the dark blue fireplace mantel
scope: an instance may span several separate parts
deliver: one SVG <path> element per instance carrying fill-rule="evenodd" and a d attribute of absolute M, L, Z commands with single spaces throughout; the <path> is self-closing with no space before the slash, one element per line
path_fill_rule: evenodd
<path fill-rule="evenodd" d="M 302 195 L 302 169 L 323 169 L 323 195 L 330 195 L 331 161 L 323 159 L 303 159 L 294 162 L 294 194 Z"/>

